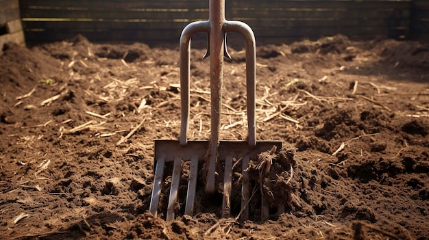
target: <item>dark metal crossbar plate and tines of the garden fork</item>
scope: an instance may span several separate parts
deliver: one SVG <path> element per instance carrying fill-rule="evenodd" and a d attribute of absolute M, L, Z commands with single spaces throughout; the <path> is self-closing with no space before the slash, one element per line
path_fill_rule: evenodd
<path fill-rule="evenodd" d="M 208 148 L 209 141 L 188 141 L 187 146 L 180 146 L 180 142 L 177 140 L 156 140 L 155 141 L 155 177 L 154 177 L 154 189 L 152 191 L 151 203 L 149 211 L 154 215 L 158 213 L 158 204 L 160 202 L 160 196 L 162 191 L 168 189 L 163 187 L 162 183 L 164 179 L 168 178 L 164 176 L 165 165 L 173 163 L 173 170 L 171 171 L 171 185 L 169 191 L 169 201 L 167 206 L 167 221 L 175 219 L 175 213 L 180 212 L 185 215 L 193 215 L 195 205 L 195 193 L 198 187 L 198 165 L 199 163 L 205 163 L 206 149 Z M 220 141 L 219 142 L 219 162 L 223 164 L 223 183 L 219 187 L 220 194 L 222 195 L 222 217 L 230 217 L 232 209 L 231 206 L 241 206 L 240 216 L 241 219 L 249 219 L 249 201 L 251 199 L 250 188 L 251 181 L 247 172 L 247 167 L 251 159 L 256 159 L 260 152 L 271 150 L 273 146 L 276 146 L 278 150 L 282 147 L 282 142 L 277 141 L 258 141 L 255 147 L 250 147 L 247 142 L 243 141 Z M 241 185 L 239 192 L 232 194 L 232 175 L 233 175 L 233 159 L 241 159 L 241 178 L 238 184 Z M 186 188 L 186 203 L 184 208 L 178 202 L 177 193 L 180 189 L 180 178 L 181 178 L 181 163 L 190 161 L 188 184 Z M 182 183 L 183 184 L 183 183 Z M 241 203 L 232 202 L 231 196 L 241 196 Z M 268 217 L 268 205 L 267 201 L 263 198 L 261 200 L 261 219 Z M 265 203 L 264 203 L 265 202 Z M 182 209 L 182 211 L 180 211 Z M 264 210 L 265 209 L 265 210 Z"/>

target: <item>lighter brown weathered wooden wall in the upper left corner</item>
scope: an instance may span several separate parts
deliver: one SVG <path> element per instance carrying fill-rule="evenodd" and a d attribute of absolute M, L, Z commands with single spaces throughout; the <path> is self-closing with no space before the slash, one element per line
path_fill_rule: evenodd
<path fill-rule="evenodd" d="M 0 0 L 0 53 L 5 42 L 24 44 L 18 0 Z"/>

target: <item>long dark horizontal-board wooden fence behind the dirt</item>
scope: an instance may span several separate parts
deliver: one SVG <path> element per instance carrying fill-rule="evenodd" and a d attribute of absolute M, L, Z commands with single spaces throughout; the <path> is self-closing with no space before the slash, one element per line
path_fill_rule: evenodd
<path fill-rule="evenodd" d="M 256 38 L 299 40 L 344 34 L 427 38 L 427 0 L 226 0 L 226 18 Z M 186 24 L 208 18 L 208 0 L 20 0 L 27 42 L 178 41 Z"/>

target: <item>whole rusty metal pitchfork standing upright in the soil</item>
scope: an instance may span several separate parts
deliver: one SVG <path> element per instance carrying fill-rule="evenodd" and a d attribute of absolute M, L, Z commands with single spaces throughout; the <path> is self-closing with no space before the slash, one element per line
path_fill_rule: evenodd
<path fill-rule="evenodd" d="M 189 120 L 189 82 L 191 60 L 191 36 L 197 32 L 208 33 L 208 51 L 204 57 L 210 56 L 210 101 L 211 101 L 211 133 L 210 141 L 188 141 Z M 223 57 L 230 57 L 226 48 L 226 33 L 236 32 L 245 39 L 246 51 L 246 84 L 247 84 L 247 142 L 244 141 L 219 141 L 219 129 L 221 121 L 222 81 L 223 81 Z M 215 193 L 216 165 L 224 162 L 223 178 L 223 204 L 222 216 L 228 217 L 231 213 L 231 189 L 232 189 L 232 162 L 243 158 L 241 162 L 241 212 L 242 219 L 249 217 L 249 174 L 246 171 L 250 159 L 255 159 L 260 152 L 271 150 L 276 146 L 278 150 L 282 142 L 256 141 L 255 119 L 255 92 L 256 92 L 256 46 L 252 29 L 239 21 L 227 21 L 225 19 L 225 0 L 209 0 L 208 21 L 197 21 L 188 24 L 180 36 L 180 91 L 181 91 L 181 127 L 180 140 L 155 140 L 154 188 L 151 195 L 149 211 L 156 215 L 164 178 L 164 166 L 166 162 L 173 161 L 173 174 L 171 176 L 171 189 L 167 208 L 167 221 L 175 218 L 175 206 L 177 206 L 177 191 L 180 185 L 181 163 L 191 161 L 189 170 L 188 189 L 186 194 L 186 206 L 184 214 L 193 215 L 195 191 L 197 187 L 197 168 L 199 161 L 205 161 L 206 166 L 206 194 Z M 225 54 L 224 54 L 225 53 Z M 268 214 L 268 206 L 262 198 L 262 215 Z M 262 217 L 264 218 L 264 217 Z"/>

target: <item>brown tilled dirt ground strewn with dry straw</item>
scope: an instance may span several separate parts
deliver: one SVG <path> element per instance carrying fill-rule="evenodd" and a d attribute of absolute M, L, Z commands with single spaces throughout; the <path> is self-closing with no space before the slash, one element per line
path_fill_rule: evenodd
<path fill-rule="evenodd" d="M 191 54 L 190 137 L 208 139 L 210 63 Z M 230 54 L 221 138 L 245 140 L 245 52 Z M 177 47 L 6 45 L 0 238 L 429 239 L 429 44 L 334 36 L 257 56 L 257 137 L 284 145 L 261 189 L 286 213 L 165 222 L 148 209 L 154 139 L 180 134 Z"/>

